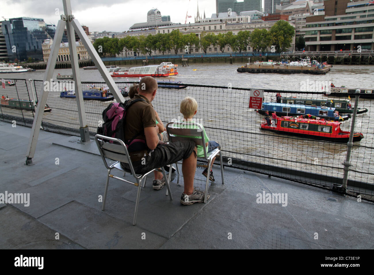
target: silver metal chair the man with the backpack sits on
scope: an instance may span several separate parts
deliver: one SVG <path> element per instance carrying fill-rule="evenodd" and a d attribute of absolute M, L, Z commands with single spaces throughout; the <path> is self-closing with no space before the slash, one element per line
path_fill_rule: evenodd
<path fill-rule="evenodd" d="M 102 201 L 102 210 L 105 208 L 105 201 L 107 199 L 107 192 L 108 192 L 108 184 L 109 184 L 109 178 L 115 178 L 117 180 L 124 181 L 126 183 L 133 184 L 138 187 L 138 194 L 137 194 L 137 200 L 135 202 L 135 213 L 134 213 L 134 221 L 133 225 L 135 225 L 136 219 L 137 219 L 137 214 L 138 214 L 138 205 L 139 205 L 139 198 L 140 198 L 140 189 L 143 184 L 143 187 L 145 186 L 145 181 L 147 180 L 147 175 L 149 175 L 151 172 L 157 169 L 152 169 L 148 171 L 145 174 L 137 175 L 135 174 L 134 167 L 132 166 L 131 158 L 129 156 L 129 152 L 126 148 L 125 143 L 118 139 L 118 138 L 111 138 L 111 137 L 105 137 L 104 135 L 95 135 L 95 141 L 97 144 L 97 147 L 99 149 L 102 161 L 104 162 L 105 167 L 108 169 L 108 175 L 107 175 L 107 183 L 105 184 L 105 192 L 104 192 L 104 199 Z M 114 141 L 113 143 L 109 143 L 107 141 Z M 113 161 L 117 161 L 114 164 L 111 164 L 110 166 L 108 165 L 107 161 L 105 158 L 111 159 Z M 121 167 L 120 162 L 125 162 L 129 164 L 130 169 L 123 169 Z M 115 175 L 110 174 L 110 171 L 113 169 L 119 169 L 122 172 L 131 172 L 131 174 L 135 178 L 135 182 L 125 180 L 123 178 L 117 177 Z M 169 181 L 168 178 L 166 177 L 165 169 L 162 167 L 162 173 L 166 181 L 166 187 L 167 187 L 167 192 L 170 193 L 170 200 L 172 200 L 172 195 L 170 192 L 170 187 L 169 187 Z M 125 175 L 125 174 L 124 174 Z"/>

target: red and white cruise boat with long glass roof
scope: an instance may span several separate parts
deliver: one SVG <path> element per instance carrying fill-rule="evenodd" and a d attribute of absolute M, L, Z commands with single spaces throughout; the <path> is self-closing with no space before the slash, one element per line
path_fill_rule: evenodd
<path fill-rule="evenodd" d="M 162 62 L 160 65 L 147 65 L 140 67 L 132 67 L 128 70 L 126 68 L 120 68 L 114 70 L 111 77 L 166 77 L 177 75 L 178 65 L 174 65 L 171 62 Z M 109 70 L 111 73 L 111 70 Z"/>

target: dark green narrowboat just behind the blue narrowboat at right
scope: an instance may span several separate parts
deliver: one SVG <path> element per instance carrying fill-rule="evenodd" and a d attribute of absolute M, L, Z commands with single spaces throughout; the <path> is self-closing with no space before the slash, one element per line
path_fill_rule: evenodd
<path fill-rule="evenodd" d="M 309 98 L 298 98 L 298 97 L 282 97 L 282 103 L 287 104 L 300 104 L 312 107 L 332 107 L 335 108 L 340 114 L 342 113 L 353 113 L 353 107 L 350 104 L 350 101 L 347 99 L 309 99 Z M 368 109 L 359 108 L 357 110 L 358 114 L 366 113 Z"/>

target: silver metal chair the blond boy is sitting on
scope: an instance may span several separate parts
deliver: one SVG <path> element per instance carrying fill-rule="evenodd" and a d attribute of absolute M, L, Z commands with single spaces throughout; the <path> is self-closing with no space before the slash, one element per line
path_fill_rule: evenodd
<path fill-rule="evenodd" d="M 188 129 L 192 128 L 192 129 Z M 196 127 L 196 128 L 194 128 Z M 195 142 L 196 145 L 202 145 L 204 150 L 204 159 L 208 161 L 208 168 L 211 167 L 212 159 L 220 154 L 220 163 L 221 163 L 221 177 L 222 177 L 222 184 L 224 184 L 223 178 L 223 162 L 222 162 L 222 152 L 221 146 L 213 149 L 210 152 L 206 152 L 205 147 L 205 138 L 204 138 L 204 131 L 203 126 L 196 122 L 174 122 L 171 121 L 166 125 L 166 131 L 168 132 L 169 142 L 174 141 L 182 141 L 182 140 L 192 140 Z M 175 164 L 177 165 L 177 164 Z M 178 165 L 177 165 L 178 168 Z M 210 176 L 211 169 L 208 169 L 208 175 L 206 177 L 206 186 L 205 186 L 205 194 L 208 192 L 209 186 L 209 176 Z M 179 169 L 178 169 L 179 173 Z M 206 196 L 204 199 L 204 203 L 206 203 Z"/>

